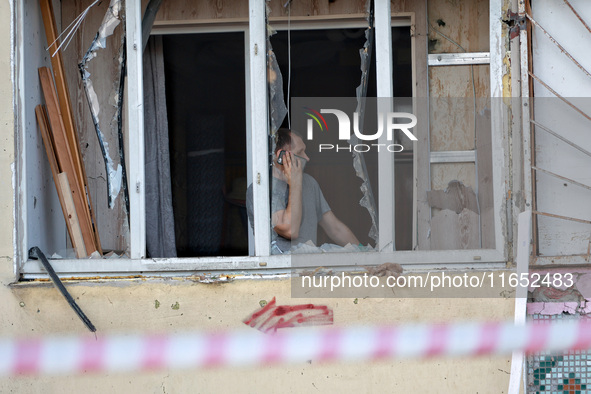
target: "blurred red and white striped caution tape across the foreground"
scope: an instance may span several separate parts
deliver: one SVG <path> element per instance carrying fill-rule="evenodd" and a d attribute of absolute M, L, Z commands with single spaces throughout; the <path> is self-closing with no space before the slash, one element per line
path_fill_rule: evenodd
<path fill-rule="evenodd" d="M 591 348 L 591 322 L 464 323 L 0 339 L 0 375 L 372 361 Z"/>

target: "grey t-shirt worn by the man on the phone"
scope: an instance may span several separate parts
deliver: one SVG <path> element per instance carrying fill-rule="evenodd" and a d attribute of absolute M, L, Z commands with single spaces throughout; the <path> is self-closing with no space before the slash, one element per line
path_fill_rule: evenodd
<path fill-rule="evenodd" d="M 253 223 L 253 194 L 252 184 L 248 187 L 246 193 L 246 208 L 250 223 Z M 275 177 L 272 177 L 271 189 L 271 214 L 277 211 L 285 210 L 289 201 L 289 185 Z M 326 202 L 318 182 L 308 174 L 303 174 L 302 178 L 302 224 L 300 225 L 299 236 L 297 239 L 289 240 L 271 231 L 271 242 L 276 245 L 281 252 L 287 252 L 292 245 L 312 241 L 316 244 L 318 234 L 318 222 L 322 216 L 330 211 L 330 206 Z M 273 248 L 274 249 L 274 248 Z"/>

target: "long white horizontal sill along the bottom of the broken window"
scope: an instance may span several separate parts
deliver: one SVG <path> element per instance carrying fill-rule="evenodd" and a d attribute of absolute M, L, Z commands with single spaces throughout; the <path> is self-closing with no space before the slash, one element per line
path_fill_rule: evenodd
<path fill-rule="evenodd" d="M 503 254 L 494 249 L 448 251 L 400 251 L 367 253 L 324 253 L 297 255 L 305 257 L 305 264 L 297 268 L 325 267 L 334 271 L 364 270 L 365 266 L 398 263 L 405 270 L 428 269 L 495 269 L 506 268 Z M 50 260 L 56 273 L 65 279 L 100 278 L 159 278 L 205 275 L 221 277 L 241 275 L 259 278 L 266 275 L 289 274 L 292 255 L 267 257 L 196 257 L 170 259 L 117 259 L 117 260 Z M 26 261 L 20 279 L 47 278 L 37 260 Z"/>

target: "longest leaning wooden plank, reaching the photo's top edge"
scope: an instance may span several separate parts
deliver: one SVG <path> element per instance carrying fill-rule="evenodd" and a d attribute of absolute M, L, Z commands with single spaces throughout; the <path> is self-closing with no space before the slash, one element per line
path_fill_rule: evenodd
<path fill-rule="evenodd" d="M 41 6 L 43 24 L 45 25 L 45 36 L 47 38 L 47 45 L 49 46 L 49 53 L 53 55 L 56 52 L 60 41 L 57 39 L 59 33 L 57 31 L 57 25 L 55 22 L 52 0 L 40 0 L 39 4 Z M 57 51 L 55 56 L 51 57 L 51 66 L 53 68 L 56 92 L 59 100 L 59 108 L 62 113 L 66 138 L 72 153 L 75 169 L 74 176 L 76 176 L 78 183 L 81 185 L 81 190 L 84 192 L 85 200 L 87 200 L 86 204 L 89 207 L 88 209 L 84 210 L 84 212 L 81 212 L 81 214 L 84 215 L 86 221 L 91 223 L 94 243 L 96 244 L 98 251 L 102 254 L 100 237 L 95 227 L 96 218 L 94 216 L 94 210 L 92 209 L 93 205 L 88 189 L 88 179 L 86 176 L 86 170 L 84 168 L 84 161 L 82 160 L 82 155 L 80 153 L 80 141 L 78 139 L 78 133 L 76 132 L 74 115 L 70 105 L 70 94 L 68 92 L 61 50 Z"/>

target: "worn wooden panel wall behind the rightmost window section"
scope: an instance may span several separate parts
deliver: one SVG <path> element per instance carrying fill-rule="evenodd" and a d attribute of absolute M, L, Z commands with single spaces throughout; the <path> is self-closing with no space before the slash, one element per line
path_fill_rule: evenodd
<path fill-rule="evenodd" d="M 489 52 L 487 1 L 429 1 L 427 13 L 430 56 Z M 420 148 L 418 179 L 427 196 L 419 188 L 417 197 L 420 249 L 494 248 L 489 69 L 488 64 L 428 67 L 429 138 Z M 446 209 L 435 198 L 457 196 L 457 187 L 470 190 L 471 208 Z"/>

